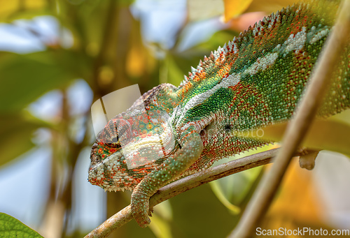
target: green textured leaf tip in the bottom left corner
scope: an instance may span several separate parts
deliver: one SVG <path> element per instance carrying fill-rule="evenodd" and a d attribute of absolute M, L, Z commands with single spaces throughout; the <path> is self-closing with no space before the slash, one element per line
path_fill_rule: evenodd
<path fill-rule="evenodd" d="M 16 218 L 0 212 L 0 237 L 42 237 Z"/>

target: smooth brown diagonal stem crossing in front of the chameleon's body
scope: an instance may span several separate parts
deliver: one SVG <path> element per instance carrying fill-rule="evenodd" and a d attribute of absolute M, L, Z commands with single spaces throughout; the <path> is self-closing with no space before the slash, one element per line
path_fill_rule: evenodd
<path fill-rule="evenodd" d="M 341 13 L 337 19 L 330 38 L 322 51 L 321 60 L 318 62 L 306 94 L 302 98 L 296 117 L 290 121 L 283 136 L 283 147 L 274 159 L 271 170 L 264 174 L 253 198 L 248 203 L 237 228 L 230 237 L 251 237 L 261 218 L 266 213 L 274 195 L 281 184 L 283 174 L 294 151 L 302 142 L 307 129 L 316 116 L 318 105 L 322 101 L 325 89 L 332 78 L 332 70 L 335 68 L 339 55 L 348 43 L 350 29 L 350 0 L 345 0 Z"/>

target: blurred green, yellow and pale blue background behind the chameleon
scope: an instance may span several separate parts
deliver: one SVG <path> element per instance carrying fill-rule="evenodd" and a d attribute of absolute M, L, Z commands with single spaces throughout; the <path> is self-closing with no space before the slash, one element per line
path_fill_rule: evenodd
<path fill-rule="evenodd" d="M 92 103 L 132 84 L 179 85 L 204 55 L 290 3 L 0 0 L 0 212 L 44 237 L 83 237 L 130 204 L 129 192 L 87 182 Z M 349 112 L 338 119 L 350 124 Z M 111 237 L 225 237 L 266 170 L 178 195 L 155 207 L 149 228 L 132 221 Z M 330 151 L 311 172 L 293 161 L 262 228 L 350 229 L 349 171 Z"/>

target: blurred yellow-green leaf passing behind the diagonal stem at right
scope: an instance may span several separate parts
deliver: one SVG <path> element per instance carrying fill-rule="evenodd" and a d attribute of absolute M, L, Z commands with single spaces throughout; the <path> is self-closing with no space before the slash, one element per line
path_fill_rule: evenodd
<path fill-rule="evenodd" d="M 256 138 L 268 141 L 281 141 L 287 123 L 274 124 L 265 128 L 260 128 L 257 131 L 248 133 L 239 133 L 245 137 Z M 350 124 L 336 120 L 321 120 L 316 119 L 307 135 L 302 141 L 302 146 L 314 150 L 330 150 L 339 153 L 350 155 Z M 288 143 L 288 142 L 287 142 Z"/>

